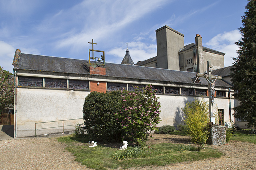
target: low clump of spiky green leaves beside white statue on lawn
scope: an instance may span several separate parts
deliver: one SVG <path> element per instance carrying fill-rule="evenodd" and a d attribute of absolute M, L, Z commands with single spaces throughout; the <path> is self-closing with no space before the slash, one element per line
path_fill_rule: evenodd
<path fill-rule="evenodd" d="M 141 146 L 127 147 L 125 150 L 118 150 L 114 153 L 113 158 L 117 160 L 124 160 L 128 158 L 138 158 L 143 152 Z"/>

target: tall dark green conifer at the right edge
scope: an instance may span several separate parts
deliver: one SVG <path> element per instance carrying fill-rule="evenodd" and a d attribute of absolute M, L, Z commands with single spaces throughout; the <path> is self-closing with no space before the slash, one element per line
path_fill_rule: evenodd
<path fill-rule="evenodd" d="M 242 38 L 235 42 L 239 46 L 238 57 L 233 58 L 231 81 L 234 97 L 240 104 L 233 109 L 235 118 L 256 125 L 256 0 L 248 0 L 246 12 L 242 16 L 243 26 L 239 28 Z"/>

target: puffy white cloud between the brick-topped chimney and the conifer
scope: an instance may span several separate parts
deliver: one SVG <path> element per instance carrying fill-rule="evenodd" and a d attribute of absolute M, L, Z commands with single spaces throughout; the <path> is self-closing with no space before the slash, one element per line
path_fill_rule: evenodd
<path fill-rule="evenodd" d="M 240 32 L 238 30 L 233 30 L 230 32 L 218 34 L 205 44 L 209 48 L 226 53 L 224 56 L 224 62 L 225 67 L 227 67 L 232 65 L 232 57 L 238 56 L 236 53 L 238 46 L 235 45 L 234 42 L 237 42 L 240 38 Z"/>

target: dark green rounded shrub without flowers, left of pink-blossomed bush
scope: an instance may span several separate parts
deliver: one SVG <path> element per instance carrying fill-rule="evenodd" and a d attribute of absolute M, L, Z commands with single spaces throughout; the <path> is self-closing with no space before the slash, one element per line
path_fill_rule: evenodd
<path fill-rule="evenodd" d="M 121 92 L 91 92 L 86 96 L 83 106 L 83 118 L 87 133 L 93 140 L 120 142 L 124 131 L 116 121 L 119 111 Z"/>

